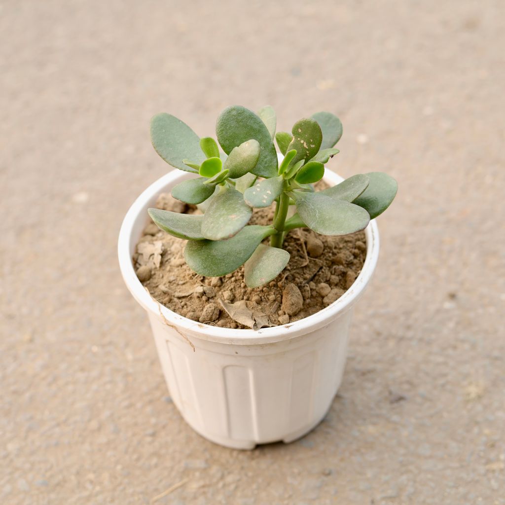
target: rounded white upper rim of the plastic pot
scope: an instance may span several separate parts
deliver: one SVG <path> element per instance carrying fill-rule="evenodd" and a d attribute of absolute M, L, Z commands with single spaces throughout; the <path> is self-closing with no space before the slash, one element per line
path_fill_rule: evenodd
<path fill-rule="evenodd" d="M 139 219 L 142 219 L 140 214 L 144 213 L 145 219 L 142 219 L 144 224 L 141 227 L 143 229 L 148 222 L 147 208 L 154 205 L 156 197 L 166 190 L 167 186 L 178 182 L 179 179 L 187 179 L 190 175 L 192 174 L 174 169 L 147 187 L 126 213 L 121 225 L 118 240 L 118 257 L 121 274 L 133 297 L 145 310 L 153 313 L 169 326 L 173 325 L 175 327 L 174 329 L 184 338 L 190 335 L 193 338 L 196 337 L 212 342 L 242 345 L 267 344 L 288 340 L 330 324 L 339 314 L 349 310 L 351 306 L 354 305 L 357 298 L 363 293 L 373 275 L 379 256 L 379 230 L 375 219 L 371 220 L 365 228 L 367 256 L 363 268 L 355 282 L 340 298 L 338 298 L 338 300 L 334 301 L 333 304 L 325 307 L 312 316 L 308 316 L 293 323 L 272 326 L 270 328 L 261 328 L 259 330 L 232 329 L 198 323 L 161 305 L 147 292 L 146 288 L 144 288 L 142 283 L 138 280 L 133 268 L 131 259 L 132 248 L 135 247 L 139 238 L 137 236 L 132 236 L 133 228 L 135 227 L 138 229 L 138 225 L 135 225 L 138 223 Z M 332 185 L 338 184 L 343 180 L 342 177 L 328 168 L 325 168 L 324 179 Z M 133 240 L 134 242 L 132 242 Z"/>

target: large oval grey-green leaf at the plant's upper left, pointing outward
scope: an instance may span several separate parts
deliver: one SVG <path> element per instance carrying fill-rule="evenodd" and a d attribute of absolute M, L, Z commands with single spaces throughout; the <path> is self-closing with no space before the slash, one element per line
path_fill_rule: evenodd
<path fill-rule="evenodd" d="M 151 119 L 151 141 L 156 152 L 172 167 L 186 172 L 196 172 L 182 160 L 199 165 L 205 160 L 196 133 L 180 119 L 170 114 L 157 114 Z"/>

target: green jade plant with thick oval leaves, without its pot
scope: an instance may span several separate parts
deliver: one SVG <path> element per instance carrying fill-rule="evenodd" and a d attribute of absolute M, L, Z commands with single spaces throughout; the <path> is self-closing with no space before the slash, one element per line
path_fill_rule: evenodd
<path fill-rule="evenodd" d="M 305 227 L 324 235 L 363 230 L 393 200 L 397 184 L 382 172 L 358 174 L 320 191 L 324 164 L 339 150 L 340 120 L 319 112 L 277 132 L 272 107 L 258 114 L 240 106 L 217 119 L 216 137 L 199 138 L 170 114 L 151 120 L 157 153 L 190 177 L 172 196 L 197 205 L 203 214 L 149 209 L 151 219 L 167 233 L 186 239 L 184 257 L 197 274 L 219 277 L 244 265 L 248 287 L 274 279 L 287 265 L 282 248 L 287 233 Z M 280 163 L 274 145 L 284 156 Z M 218 144 L 219 143 L 219 144 Z M 221 146 L 221 149 L 219 148 Z M 248 225 L 253 209 L 275 205 L 270 224 Z M 264 243 L 270 237 L 270 245 Z"/>

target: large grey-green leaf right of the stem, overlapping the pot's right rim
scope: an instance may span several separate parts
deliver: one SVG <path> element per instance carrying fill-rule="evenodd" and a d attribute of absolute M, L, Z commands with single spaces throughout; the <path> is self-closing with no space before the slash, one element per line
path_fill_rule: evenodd
<path fill-rule="evenodd" d="M 318 193 L 292 191 L 300 218 L 322 235 L 347 235 L 363 230 L 370 216 L 361 207 Z"/>

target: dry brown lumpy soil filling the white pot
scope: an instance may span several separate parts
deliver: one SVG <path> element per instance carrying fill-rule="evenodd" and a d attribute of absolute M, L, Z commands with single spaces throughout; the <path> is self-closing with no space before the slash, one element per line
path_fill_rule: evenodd
<path fill-rule="evenodd" d="M 188 214 L 200 212 L 168 193 L 159 196 L 156 207 Z M 273 207 L 255 209 L 249 224 L 271 223 L 273 212 Z M 168 309 L 224 328 L 277 326 L 315 314 L 354 283 L 366 256 L 363 231 L 330 237 L 308 228 L 296 229 L 284 240 L 291 256 L 284 271 L 265 286 L 249 289 L 243 267 L 223 277 L 194 273 L 184 261 L 185 245 L 186 240 L 149 223 L 133 256 L 137 276 L 151 296 Z"/>

